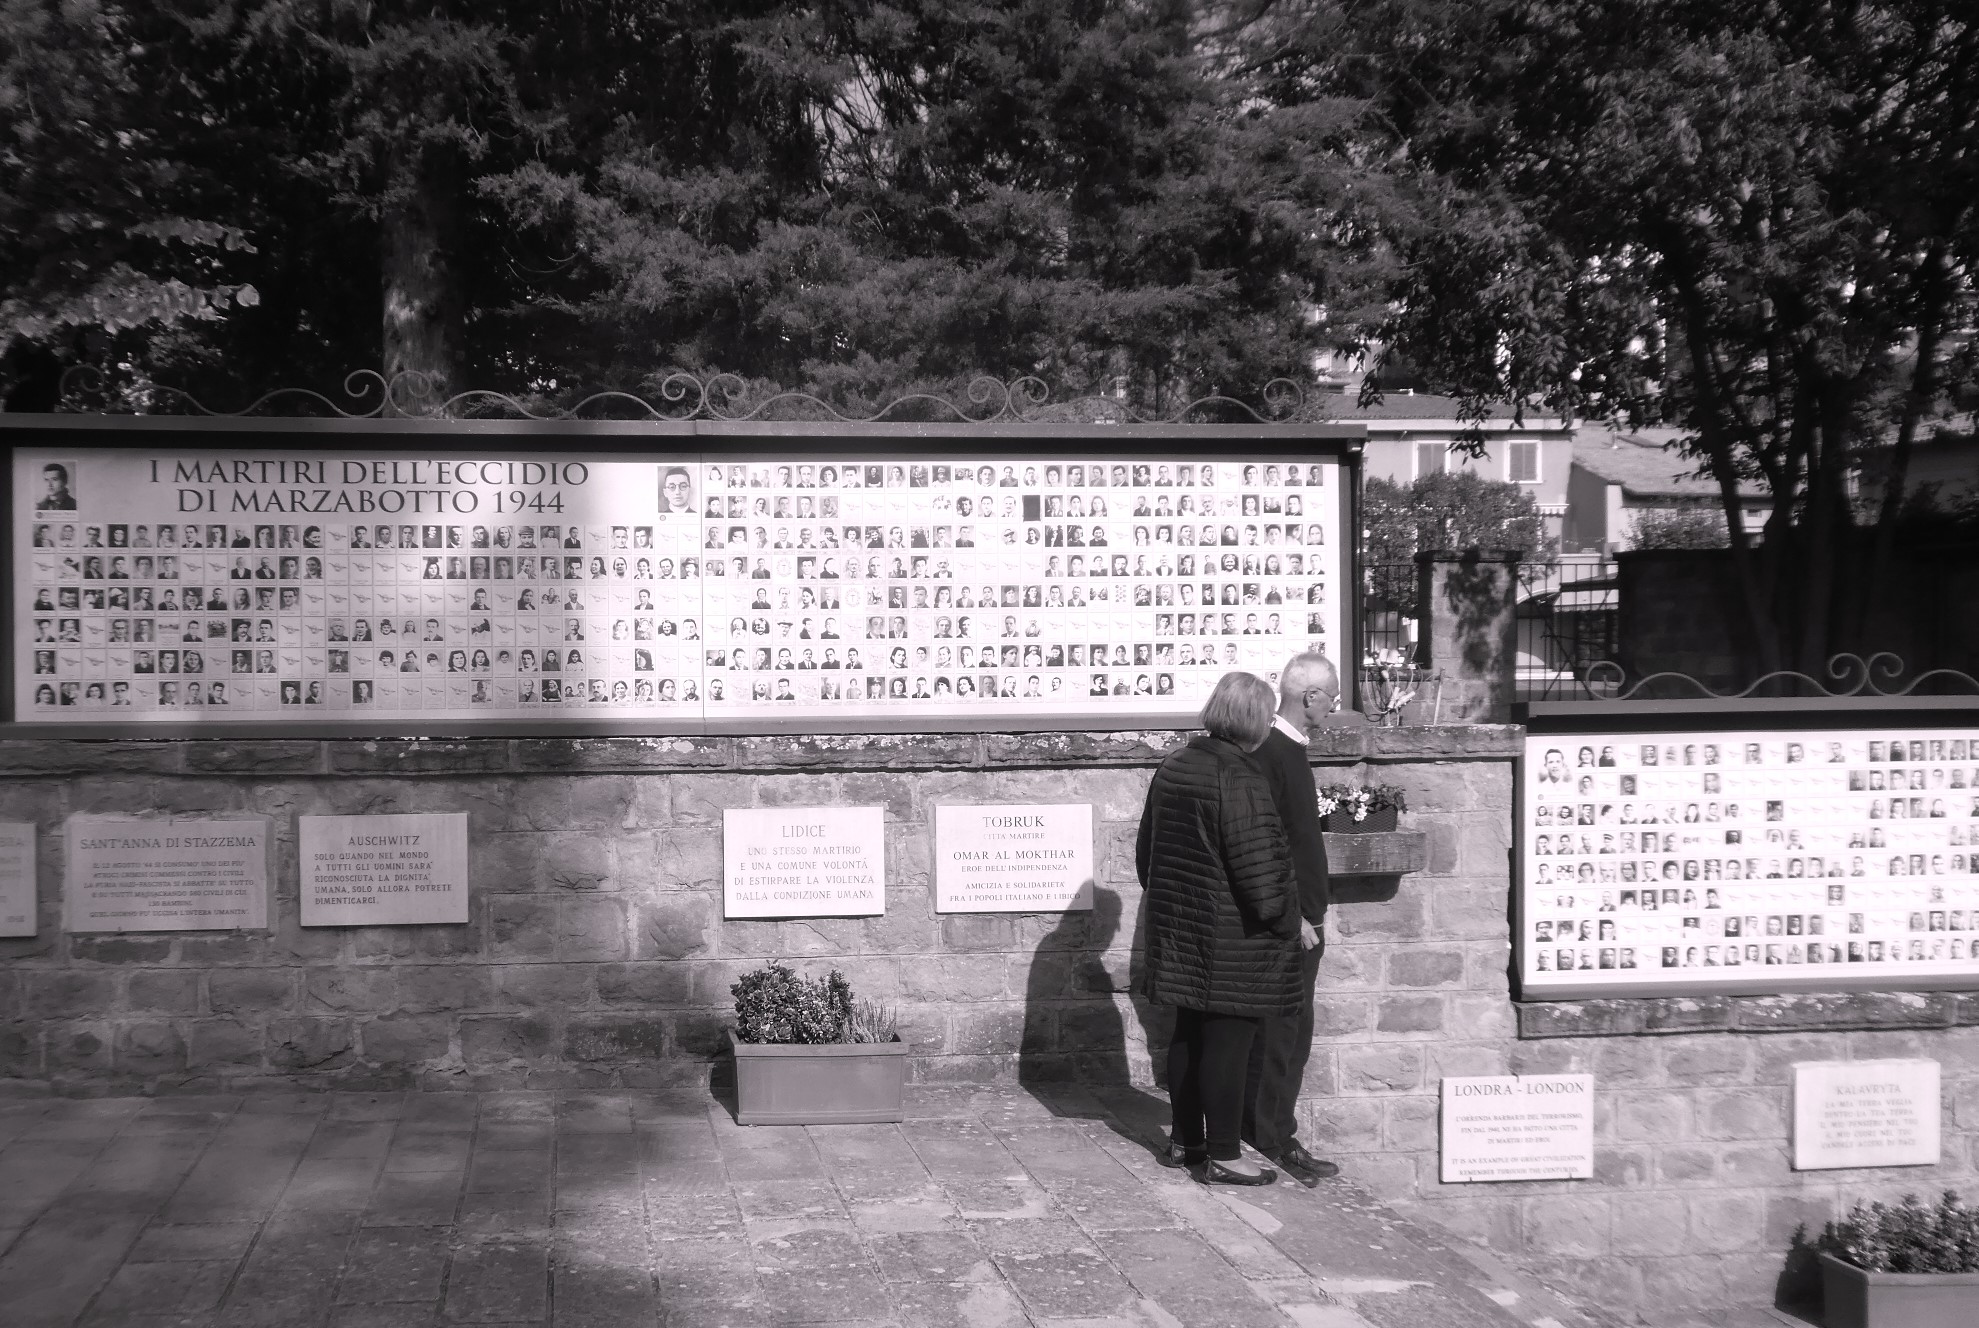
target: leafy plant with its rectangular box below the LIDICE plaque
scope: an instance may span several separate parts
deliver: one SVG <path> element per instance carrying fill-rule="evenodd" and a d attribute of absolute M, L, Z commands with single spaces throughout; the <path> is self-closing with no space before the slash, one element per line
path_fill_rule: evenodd
<path fill-rule="evenodd" d="M 906 1043 L 879 1001 L 855 1001 L 845 974 L 800 978 L 766 964 L 728 988 L 740 1124 L 900 1120 Z"/>

